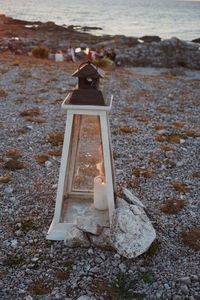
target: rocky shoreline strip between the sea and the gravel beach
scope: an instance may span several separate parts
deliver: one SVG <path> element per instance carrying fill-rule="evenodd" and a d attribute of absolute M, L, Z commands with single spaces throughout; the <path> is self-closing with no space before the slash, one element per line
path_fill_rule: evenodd
<path fill-rule="evenodd" d="M 114 48 L 119 65 L 133 67 L 184 67 L 200 70 L 200 39 L 192 42 L 159 36 L 96 36 L 80 32 L 73 25 L 63 27 L 54 22 L 30 22 L 0 15 L 0 53 L 30 55 L 33 48 L 44 45 L 52 53 L 73 48 Z"/>

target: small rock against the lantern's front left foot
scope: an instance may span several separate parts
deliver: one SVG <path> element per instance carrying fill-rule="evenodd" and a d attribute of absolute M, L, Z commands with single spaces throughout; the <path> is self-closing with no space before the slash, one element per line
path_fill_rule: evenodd
<path fill-rule="evenodd" d="M 73 226 L 71 230 L 67 231 L 64 244 L 69 248 L 87 248 L 90 246 L 87 236 L 84 234 L 84 232 L 76 228 L 76 226 Z"/>

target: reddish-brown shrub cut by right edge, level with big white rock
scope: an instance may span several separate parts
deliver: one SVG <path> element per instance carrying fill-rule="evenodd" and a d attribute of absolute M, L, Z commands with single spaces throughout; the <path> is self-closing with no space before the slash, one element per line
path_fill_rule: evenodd
<path fill-rule="evenodd" d="M 194 250 L 200 250 L 200 228 L 193 228 L 190 231 L 182 231 L 183 243 Z"/>

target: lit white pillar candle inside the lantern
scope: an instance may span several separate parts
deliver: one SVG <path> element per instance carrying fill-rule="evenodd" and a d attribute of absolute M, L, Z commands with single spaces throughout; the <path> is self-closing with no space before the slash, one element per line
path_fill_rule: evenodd
<path fill-rule="evenodd" d="M 106 183 L 103 176 L 94 178 L 94 207 L 99 210 L 108 209 Z"/>

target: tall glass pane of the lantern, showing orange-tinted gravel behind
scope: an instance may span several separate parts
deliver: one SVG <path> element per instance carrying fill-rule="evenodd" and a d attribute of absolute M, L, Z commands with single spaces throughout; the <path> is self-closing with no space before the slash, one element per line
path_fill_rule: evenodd
<path fill-rule="evenodd" d="M 105 174 L 99 116 L 75 115 L 72 132 L 71 190 L 92 192 L 94 177 Z"/>

